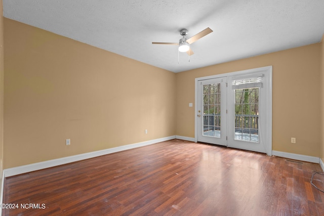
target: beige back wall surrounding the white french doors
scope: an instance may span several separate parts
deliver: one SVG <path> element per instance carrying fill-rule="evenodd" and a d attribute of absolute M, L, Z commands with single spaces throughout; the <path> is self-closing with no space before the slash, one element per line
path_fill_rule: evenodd
<path fill-rule="evenodd" d="M 194 80 L 215 74 L 273 66 L 272 148 L 319 156 L 320 45 L 270 53 L 177 73 L 176 134 L 194 137 Z M 291 137 L 296 144 L 291 144 Z"/>

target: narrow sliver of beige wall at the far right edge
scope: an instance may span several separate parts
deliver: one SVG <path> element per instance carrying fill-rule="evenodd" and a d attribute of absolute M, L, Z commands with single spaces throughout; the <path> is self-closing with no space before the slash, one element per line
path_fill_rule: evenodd
<path fill-rule="evenodd" d="M 321 127 L 320 127 L 320 157 L 324 162 L 324 34 L 320 42 L 320 87 L 321 87 Z"/>

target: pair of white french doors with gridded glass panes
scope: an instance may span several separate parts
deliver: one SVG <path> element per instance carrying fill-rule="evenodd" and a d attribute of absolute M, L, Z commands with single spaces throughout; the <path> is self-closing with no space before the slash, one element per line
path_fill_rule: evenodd
<path fill-rule="evenodd" d="M 197 142 L 272 151 L 272 67 L 196 78 Z"/>

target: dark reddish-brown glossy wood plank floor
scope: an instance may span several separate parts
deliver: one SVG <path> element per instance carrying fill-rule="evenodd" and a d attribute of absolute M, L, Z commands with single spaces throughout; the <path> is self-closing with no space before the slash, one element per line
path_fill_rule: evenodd
<path fill-rule="evenodd" d="M 4 203 L 19 208 L 3 215 L 323 215 L 313 170 L 321 168 L 172 140 L 6 178 Z M 324 187 L 320 175 L 313 182 Z"/>

